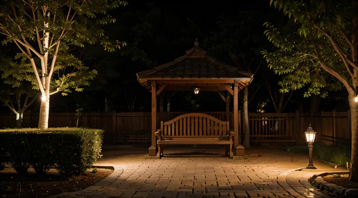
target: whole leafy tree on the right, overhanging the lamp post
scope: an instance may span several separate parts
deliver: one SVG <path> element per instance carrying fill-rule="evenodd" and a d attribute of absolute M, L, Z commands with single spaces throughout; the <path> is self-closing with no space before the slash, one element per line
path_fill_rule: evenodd
<path fill-rule="evenodd" d="M 285 28 L 264 25 L 269 41 L 278 50 L 263 51 L 276 74 L 288 74 L 282 92 L 308 86 L 305 96 L 339 89 L 349 94 L 352 126 L 350 180 L 358 181 L 357 6 L 355 0 L 271 0 L 289 18 Z M 331 83 L 331 77 L 337 82 Z M 330 86 L 330 88 L 328 88 Z"/>

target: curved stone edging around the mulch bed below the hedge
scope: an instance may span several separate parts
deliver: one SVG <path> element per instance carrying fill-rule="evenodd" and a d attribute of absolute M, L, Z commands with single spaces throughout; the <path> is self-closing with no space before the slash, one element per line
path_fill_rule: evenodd
<path fill-rule="evenodd" d="M 61 194 L 58 195 L 53 195 L 47 198 L 61 198 L 62 196 L 78 196 L 81 194 L 85 194 L 85 193 L 92 193 L 102 187 L 106 187 L 108 185 L 110 185 L 111 183 L 113 183 L 114 181 L 116 181 L 123 173 L 124 169 L 121 166 L 101 166 L 101 165 L 94 165 L 92 166 L 93 168 L 105 168 L 105 169 L 111 169 L 113 170 L 113 172 L 107 176 L 105 179 L 98 181 L 97 183 L 85 188 L 85 189 L 81 189 L 78 191 L 74 191 L 74 192 L 63 192 Z"/>

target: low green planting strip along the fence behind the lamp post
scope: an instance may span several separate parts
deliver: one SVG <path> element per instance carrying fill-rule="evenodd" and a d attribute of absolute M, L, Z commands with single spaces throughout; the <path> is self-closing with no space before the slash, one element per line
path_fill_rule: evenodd
<path fill-rule="evenodd" d="M 292 146 L 284 148 L 288 152 L 307 153 L 307 146 Z M 331 162 L 340 166 L 351 163 L 351 148 L 343 146 L 326 146 L 322 143 L 313 144 L 313 157 Z"/>

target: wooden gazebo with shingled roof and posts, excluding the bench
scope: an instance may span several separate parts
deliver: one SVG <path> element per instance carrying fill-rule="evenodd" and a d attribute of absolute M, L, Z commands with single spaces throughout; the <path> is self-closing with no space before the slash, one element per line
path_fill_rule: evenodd
<path fill-rule="evenodd" d="M 238 67 L 230 66 L 206 55 L 206 51 L 194 43 L 194 48 L 187 50 L 186 55 L 174 61 L 137 73 L 138 81 L 152 93 L 152 140 L 149 156 L 157 155 L 157 140 L 155 132 L 157 124 L 157 97 L 162 91 L 218 91 L 227 103 L 229 115 L 230 95 L 233 96 L 233 155 L 244 155 L 240 145 L 238 120 L 238 92 L 252 81 L 253 74 L 240 71 Z M 226 97 L 220 91 L 226 91 Z M 229 119 L 229 116 L 227 116 Z"/>

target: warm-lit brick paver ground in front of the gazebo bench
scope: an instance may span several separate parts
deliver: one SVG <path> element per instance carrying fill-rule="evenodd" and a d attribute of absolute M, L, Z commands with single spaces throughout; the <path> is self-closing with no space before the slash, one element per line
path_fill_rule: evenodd
<path fill-rule="evenodd" d="M 203 149 L 208 153 L 216 148 Z M 134 155 L 123 155 L 125 152 Z M 146 150 L 112 148 L 104 152 L 98 165 L 117 165 L 122 175 L 108 186 L 80 195 L 89 198 L 286 198 L 319 197 L 299 182 L 307 165 L 304 154 L 287 153 L 279 148 L 251 148 L 247 159 L 220 156 L 183 156 L 161 160 L 143 159 Z M 169 151 L 167 151 L 169 152 Z M 172 153 L 182 152 L 173 150 Z M 221 151 L 219 151 L 221 152 Z M 122 154 L 121 154 L 122 153 Z M 165 153 L 164 153 L 165 154 Z M 201 156 L 203 157 L 203 156 Z M 204 156 L 205 157 L 205 156 Z M 210 157 L 210 158 L 208 158 Z M 334 170 L 315 162 L 320 169 Z M 304 193 L 302 193 L 304 192 Z"/>

